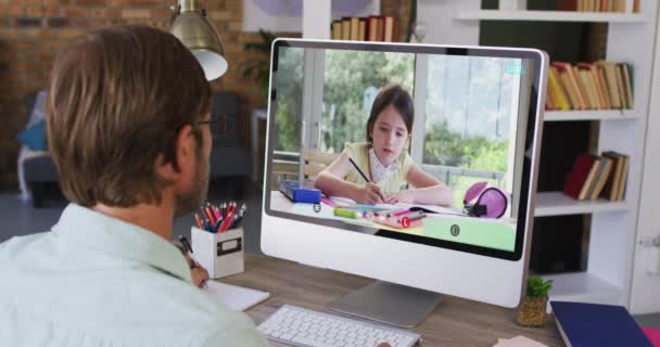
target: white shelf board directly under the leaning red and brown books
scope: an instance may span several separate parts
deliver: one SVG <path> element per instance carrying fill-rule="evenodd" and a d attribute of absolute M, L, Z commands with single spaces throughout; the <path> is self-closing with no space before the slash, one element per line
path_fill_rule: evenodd
<path fill-rule="evenodd" d="M 610 211 L 626 211 L 630 204 L 623 202 L 610 202 L 604 198 L 597 201 L 576 201 L 561 192 L 536 193 L 536 209 L 534 216 L 563 216 L 583 215 Z"/>

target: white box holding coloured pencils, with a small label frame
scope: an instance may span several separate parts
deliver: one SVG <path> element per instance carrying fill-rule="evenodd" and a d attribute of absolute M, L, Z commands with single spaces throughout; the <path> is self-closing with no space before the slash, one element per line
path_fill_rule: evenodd
<path fill-rule="evenodd" d="M 211 233 L 192 227 L 190 237 L 194 258 L 208 271 L 210 278 L 243 272 L 243 228 Z"/>

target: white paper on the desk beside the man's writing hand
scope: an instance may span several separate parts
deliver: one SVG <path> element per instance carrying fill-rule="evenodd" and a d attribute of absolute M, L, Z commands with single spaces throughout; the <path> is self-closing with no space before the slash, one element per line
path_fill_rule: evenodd
<path fill-rule="evenodd" d="M 204 292 L 208 293 L 214 298 L 219 299 L 230 310 L 236 312 L 244 311 L 264 301 L 270 296 L 268 292 L 246 288 L 213 280 L 206 281 Z"/>

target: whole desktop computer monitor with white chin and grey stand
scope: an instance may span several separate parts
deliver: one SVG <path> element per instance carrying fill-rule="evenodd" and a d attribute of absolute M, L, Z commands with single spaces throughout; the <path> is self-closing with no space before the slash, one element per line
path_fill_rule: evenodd
<path fill-rule="evenodd" d="M 436 293 L 517 306 L 547 66 L 532 49 L 276 40 L 262 250 L 379 280 L 331 308 L 396 325 L 417 324 Z M 367 180 L 382 204 L 350 198 Z M 325 194 L 293 201 L 287 183 Z"/>

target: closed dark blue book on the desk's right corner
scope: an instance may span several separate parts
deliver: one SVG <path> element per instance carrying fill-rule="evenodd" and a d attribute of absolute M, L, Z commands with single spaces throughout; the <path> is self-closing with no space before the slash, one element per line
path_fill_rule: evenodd
<path fill-rule="evenodd" d="M 550 306 L 561 337 L 569 347 L 652 347 L 623 306 L 567 301 L 550 301 Z"/>

